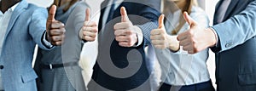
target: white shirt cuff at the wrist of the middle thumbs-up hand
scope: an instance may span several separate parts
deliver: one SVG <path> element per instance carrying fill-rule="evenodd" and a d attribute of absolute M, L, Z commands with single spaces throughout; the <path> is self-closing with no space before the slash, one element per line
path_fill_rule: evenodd
<path fill-rule="evenodd" d="M 138 26 L 132 26 L 132 29 L 137 33 L 137 45 L 133 47 L 138 47 L 143 43 L 143 31 Z"/>

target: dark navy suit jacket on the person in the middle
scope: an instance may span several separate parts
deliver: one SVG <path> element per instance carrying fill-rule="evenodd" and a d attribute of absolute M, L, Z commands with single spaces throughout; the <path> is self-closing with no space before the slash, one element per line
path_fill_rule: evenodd
<path fill-rule="evenodd" d="M 158 16 L 160 15 L 160 0 L 125 0 L 123 3 L 120 3 L 119 7 L 114 11 L 113 20 L 109 21 L 105 26 L 102 26 L 102 16 L 107 4 L 108 0 L 105 0 L 101 6 L 102 14 L 99 21 L 100 31 L 98 36 L 99 52 L 91 81 L 96 82 L 94 85 L 97 86 L 92 86 L 94 88 L 90 88 L 89 86 L 89 90 L 103 90 L 100 89 L 102 87 L 111 90 L 129 90 L 137 88 L 146 82 L 150 75 L 145 63 L 144 48 L 149 44 L 150 31 L 157 27 Z M 144 41 L 143 44 L 138 47 L 120 47 L 119 43 L 114 39 L 113 25 L 119 23 L 121 20 L 119 17 L 121 6 L 125 7 L 133 25 L 139 25 L 143 31 Z M 115 67 L 117 69 L 115 69 Z M 133 74 L 131 71 L 136 72 Z M 130 74 L 131 76 L 128 76 L 125 75 L 126 73 L 133 75 Z M 144 90 L 148 88 L 150 88 L 149 85 Z"/>

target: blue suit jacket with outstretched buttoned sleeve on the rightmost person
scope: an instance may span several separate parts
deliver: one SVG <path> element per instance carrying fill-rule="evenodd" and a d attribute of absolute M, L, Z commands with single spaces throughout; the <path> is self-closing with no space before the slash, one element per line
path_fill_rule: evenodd
<path fill-rule="evenodd" d="M 218 10 L 219 4 L 217 6 Z M 218 91 L 256 90 L 256 0 L 232 0 L 218 33 L 216 83 Z"/>

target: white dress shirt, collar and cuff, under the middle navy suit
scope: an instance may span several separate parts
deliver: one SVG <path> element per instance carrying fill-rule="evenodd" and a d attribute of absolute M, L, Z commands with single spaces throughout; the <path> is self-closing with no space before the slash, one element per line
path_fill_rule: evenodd
<path fill-rule="evenodd" d="M 119 7 L 119 5 L 121 3 L 123 3 L 124 0 L 116 0 L 116 2 L 114 3 L 115 6 L 114 6 L 114 9 L 117 9 Z M 107 20 L 108 20 L 108 14 L 110 12 L 110 9 L 111 9 L 111 5 L 113 3 L 113 0 L 109 0 L 108 2 L 108 6 L 107 8 L 105 9 L 105 12 L 103 14 L 103 18 L 102 18 L 102 27 L 106 25 L 107 23 Z M 129 14 L 129 12 L 127 13 Z M 101 21 L 100 21 L 101 22 Z M 137 45 L 135 45 L 135 47 L 141 45 L 143 43 L 143 31 L 138 27 L 138 26 L 132 26 L 133 28 L 133 31 L 137 32 L 137 38 L 138 38 L 138 42 L 137 42 Z M 101 32 L 104 32 L 104 31 L 101 31 Z"/>

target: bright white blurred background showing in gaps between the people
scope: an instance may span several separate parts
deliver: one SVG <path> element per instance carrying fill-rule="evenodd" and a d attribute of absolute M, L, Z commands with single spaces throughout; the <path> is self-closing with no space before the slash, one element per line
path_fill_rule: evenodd
<path fill-rule="evenodd" d="M 53 0 L 27 0 L 29 3 L 34 3 L 38 6 L 47 8 L 49 5 L 53 2 Z M 91 20 L 98 21 L 99 16 L 100 16 L 100 3 L 102 3 L 103 0 L 85 0 L 86 3 L 90 5 L 91 8 Z M 198 0 L 199 6 L 204 9 L 208 17 L 210 19 L 210 26 L 212 26 L 212 20 L 213 20 L 213 14 L 215 10 L 215 5 L 218 3 L 218 0 Z M 37 49 L 35 49 L 37 50 Z M 81 60 L 82 63 L 81 65 L 87 70 L 87 71 L 92 71 L 91 67 L 94 65 L 95 60 L 96 60 L 96 54 L 97 54 L 97 41 L 92 42 L 92 43 L 85 43 L 83 51 L 81 53 Z M 208 70 L 211 75 L 212 79 L 212 84 L 216 88 L 215 84 L 215 59 L 214 59 L 214 54 L 212 51 L 209 51 L 209 59 L 207 60 L 207 65 L 208 65 Z M 36 54 L 34 54 L 36 56 Z M 35 58 L 35 57 L 34 57 Z M 84 73 L 87 74 L 84 77 L 90 77 L 90 72 L 89 73 Z M 89 74 L 89 75 L 88 75 Z M 85 79 L 86 82 L 88 82 L 90 78 Z"/>

